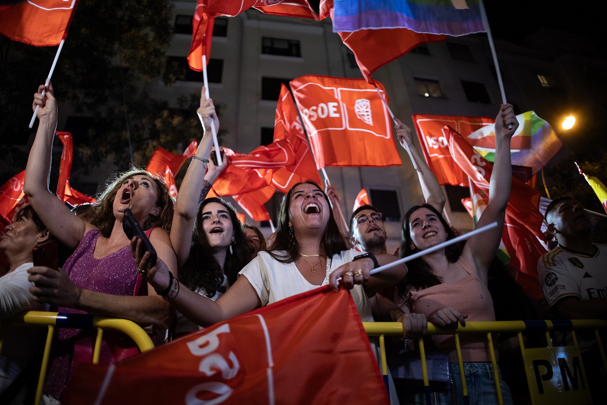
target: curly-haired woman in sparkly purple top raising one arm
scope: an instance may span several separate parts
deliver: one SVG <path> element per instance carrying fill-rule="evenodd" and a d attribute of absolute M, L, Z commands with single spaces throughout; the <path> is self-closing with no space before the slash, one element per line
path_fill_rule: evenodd
<path fill-rule="evenodd" d="M 46 94 L 43 95 L 42 91 Z M 177 274 L 168 230 L 173 202 L 164 181 L 135 168 L 118 176 L 98 198 L 98 204 L 81 220 L 50 193 L 50 158 L 57 125 L 53 87 L 39 86 L 33 108 L 38 109 L 38 132 L 25 171 L 24 193 L 55 237 L 75 252 L 59 271 L 46 267 L 29 269 L 34 302 L 58 307 L 59 312 L 94 313 L 131 319 L 156 330 L 166 329 L 171 309 L 148 283 L 141 282 L 138 263 L 123 231 L 124 210 L 131 209 L 154 246 L 158 258 Z M 89 331 L 59 330 L 45 392 L 60 400 L 72 373 L 75 345 Z M 114 359 L 109 359 L 112 361 Z M 89 360 L 90 361 L 90 360 Z"/>

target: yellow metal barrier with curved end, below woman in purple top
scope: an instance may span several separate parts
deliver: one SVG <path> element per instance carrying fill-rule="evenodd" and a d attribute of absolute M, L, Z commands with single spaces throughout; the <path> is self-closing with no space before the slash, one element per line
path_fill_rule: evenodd
<path fill-rule="evenodd" d="M 126 334 L 129 336 L 129 338 L 133 339 L 141 352 L 154 348 L 154 343 L 148 336 L 148 333 L 146 333 L 139 325 L 135 324 L 135 322 L 132 322 L 132 320 L 107 316 L 93 316 L 90 314 L 26 311 L 0 322 L 0 352 L 2 351 L 2 342 L 4 342 L 4 332 L 6 330 L 4 326 L 10 324 L 48 327 L 34 405 L 39 404 L 42 398 L 42 389 L 44 389 L 44 381 L 46 380 L 46 372 L 50 357 L 50 347 L 53 342 L 55 328 L 97 329 L 97 338 L 95 339 L 95 347 L 93 347 L 93 364 L 97 364 L 99 362 L 101 353 L 101 339 L 103 338 L 104 330 L 113 330 Z"/>

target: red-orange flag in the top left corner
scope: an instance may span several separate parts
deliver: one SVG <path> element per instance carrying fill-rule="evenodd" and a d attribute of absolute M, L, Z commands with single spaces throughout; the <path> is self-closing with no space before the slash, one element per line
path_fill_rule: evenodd
<path fill-rule="evenodd" d="M 78 0 L 28 0 L 0 9 L 0 33 L 33 46 L 58 45 Z"/>

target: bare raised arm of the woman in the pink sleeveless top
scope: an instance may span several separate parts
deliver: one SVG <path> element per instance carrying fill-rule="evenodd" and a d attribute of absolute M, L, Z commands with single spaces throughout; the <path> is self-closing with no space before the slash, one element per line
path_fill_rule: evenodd
<path fill-rule="evenodd" d="M 508 126 L 512 125 L 512 129 Z M 495 258 L 504 227 L 506 206 L 510 198 L 512 184 L 512 164 L 510 163 L 510 139 L 518 128 L 517 117 L 510 104 L 502 104 L 495 117 L 495 161 L 489 180 L 489 203 L 483 211 L 477 227 L 497 221 L 498 226 L 470 238 L 462 255 L 469 263 L 475 263 L 478 276 L 487 284 L 487 269 Z"/>

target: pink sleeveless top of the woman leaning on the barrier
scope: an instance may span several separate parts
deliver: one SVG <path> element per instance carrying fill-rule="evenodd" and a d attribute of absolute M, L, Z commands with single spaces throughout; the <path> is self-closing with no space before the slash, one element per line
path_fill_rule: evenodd
<path fill-rule="evenodd" d="M 452 306 L 461 313 L 468 314 L 466 322 L 495 320 L 493 300 L 486 286 L 476 278 L 472 267 L 463 258 L 457 263 L 466 270 L 468 275 L 455 283 L 443 283 L 420 291 L 409 292 L 407 301 L 414 313 L 425 314 L 429 317 L 438 308 Z M 449 361 L 457 361 L 455 339 L 453 335 L 435 335 L 432 341 L 441 351 L 449 351 Z M 493 339 L 497 342 L 497 339 Z M 459 344 L 465 362 L 489 362 L 489 344 L 486 334 L 460 334 Z M 497 358 L 497 351 L 495 351 Z"/>

